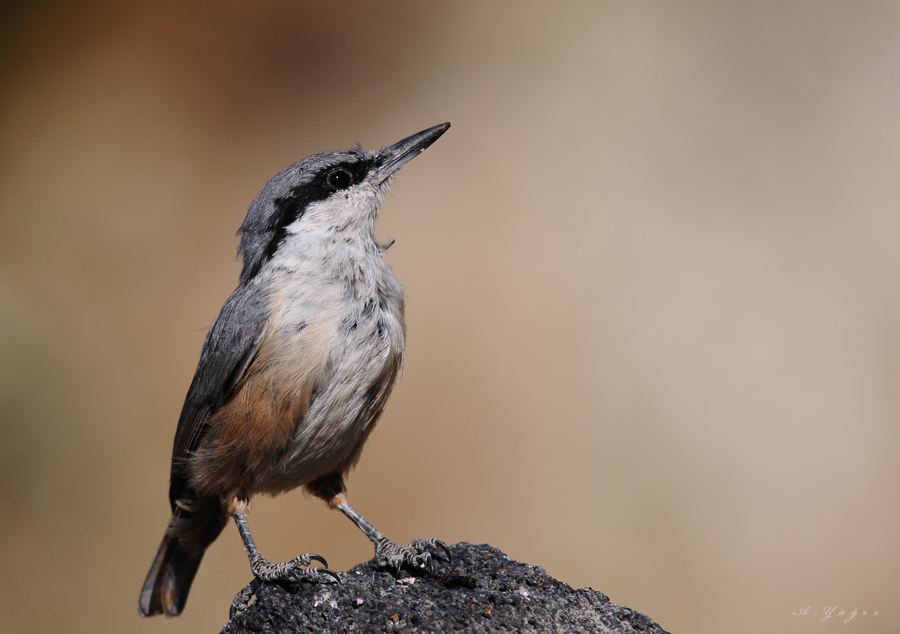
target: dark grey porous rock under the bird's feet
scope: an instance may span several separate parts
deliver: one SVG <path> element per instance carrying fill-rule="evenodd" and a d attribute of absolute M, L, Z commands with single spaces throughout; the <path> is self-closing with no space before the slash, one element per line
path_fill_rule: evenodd
<path fill-rule="evenodd" d="M 452 563 L 437 559 L 433 575 L 398 578 L 369 562 L 340 573 L 340 584 L 261 584 L 222 632 L 665 634 L 602 592 L 573 590 L 492 546 L 463 542 L 450 550 Z"/>

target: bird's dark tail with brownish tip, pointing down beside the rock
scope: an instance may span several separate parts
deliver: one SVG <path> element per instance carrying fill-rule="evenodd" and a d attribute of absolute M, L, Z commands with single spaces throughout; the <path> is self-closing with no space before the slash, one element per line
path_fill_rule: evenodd
<path fill-rule="evenodd" d="M 141 616 L 178 616 L 203 554 L 225 528 L 228 516 L 216 498 L 178 503 L 141 590 Z"/>

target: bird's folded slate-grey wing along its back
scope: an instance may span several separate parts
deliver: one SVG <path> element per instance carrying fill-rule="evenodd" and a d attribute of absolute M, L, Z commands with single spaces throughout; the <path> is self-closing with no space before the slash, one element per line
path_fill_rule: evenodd
<path fill-rule="evenodd" d="M 206 335 L 175 431 L 169 485 L 173 509 L 187 486 L 187 461 L 206 434 L 209 417 L 232 395 L 259 350 L 267 321 L 266 303 L 267 297 L 258 286 L 239 286 Z"/>

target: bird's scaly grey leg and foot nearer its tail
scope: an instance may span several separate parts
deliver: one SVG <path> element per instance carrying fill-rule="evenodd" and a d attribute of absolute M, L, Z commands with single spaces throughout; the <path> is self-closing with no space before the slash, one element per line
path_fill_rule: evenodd
<path fill-rule="evenodd" d="M 262 556 L 253 541 L 253 535 L 250 534 L 250 527 L 247 525 L 247 502 L 235 498 L 232 503 L 234 523 L 237 524 L 238 532 L 241 534 L 241 541 L 244 542 L 244 550 L 247 551 L 247 558 L 250 560 L 250 571 L 253 573 L 254 579 L 247 584 L 234 598 L 231 604 L 231 615 L 242 612 L 247 608 L 250 599 L 256 594 L 260 581 L 313 581 L 316 583 L 340 583 L 341 579 L 336 572 L 328 569 L 328 562 L 321 555 L 307 553 L 297 555 L 290 561 L 280 563 L 272 563 Z M 313 561 L 318 561 L 322 567 L 308 568 Z"/>

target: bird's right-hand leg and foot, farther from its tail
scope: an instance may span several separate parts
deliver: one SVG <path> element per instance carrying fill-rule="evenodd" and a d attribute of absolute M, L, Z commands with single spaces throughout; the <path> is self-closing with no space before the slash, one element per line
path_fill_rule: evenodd
<path fill-rule="evenodd" d="M 326 476 L 319 478 L 308 485 L 309 490 L 325 499 L 328 506 L 339 509 L 359 527 L 366 537 L 375 545 L 375 563 L 381 567 L 393 568 L 399 572 L 403 566 L 419 570 L 433 570 L 432 551 L 440 551 L 447 561 L 450 561 L 450 549 L 447 544 L 429 537 L 428 539 L 415 538 L 406 546 L 401 546 L 384 536 L 375 528 L 359 511 L 350 506 L 344 495 L 344 482 L 340 476 Z"/>

